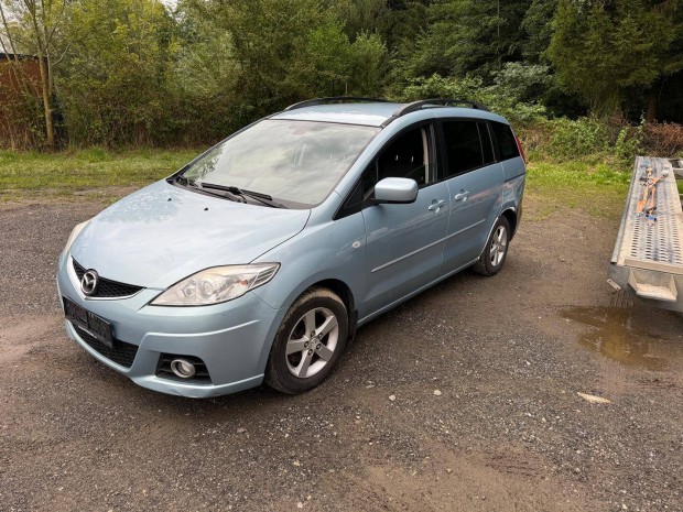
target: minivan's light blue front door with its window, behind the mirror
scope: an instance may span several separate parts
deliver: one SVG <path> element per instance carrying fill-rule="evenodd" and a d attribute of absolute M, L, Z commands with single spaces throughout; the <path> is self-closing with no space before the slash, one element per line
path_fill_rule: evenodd
<path fill-rule="evenodd" d="M 366 195 L 384 177 L 408 177 L 420 186 L 412 204 L 362 210 L 367 236 L 367 295 L 372 314 L 437 279 L 448 229 L 448 186 L 434 183 L 433 130 L 422 124 L 400 134 L 364 175 Z"/>

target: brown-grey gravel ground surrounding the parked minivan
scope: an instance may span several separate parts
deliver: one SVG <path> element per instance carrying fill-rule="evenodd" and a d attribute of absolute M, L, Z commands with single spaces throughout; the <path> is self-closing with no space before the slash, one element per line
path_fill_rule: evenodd
<path fill-rule="evenodd" d="M 0 208 L 0 510 L 683 511 L 683 318 L 606 284 L 615 220 L 527 204 L 500 274 L 364 327 L 318 389 L 193 401 L 64 333 L 56 259 L 101 208 Z"/>

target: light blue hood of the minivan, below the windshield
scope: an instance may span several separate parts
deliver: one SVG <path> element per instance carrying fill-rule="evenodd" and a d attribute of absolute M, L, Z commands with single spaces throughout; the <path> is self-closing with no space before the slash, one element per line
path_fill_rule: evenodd
<path fill-rule="evenodd" d="M 166 288 L 209 266 L 253 261 L 300 232 L 310 215 L 236 203 L 164 181 L 97 215 L 71 254 L 102 277 Z"/>

